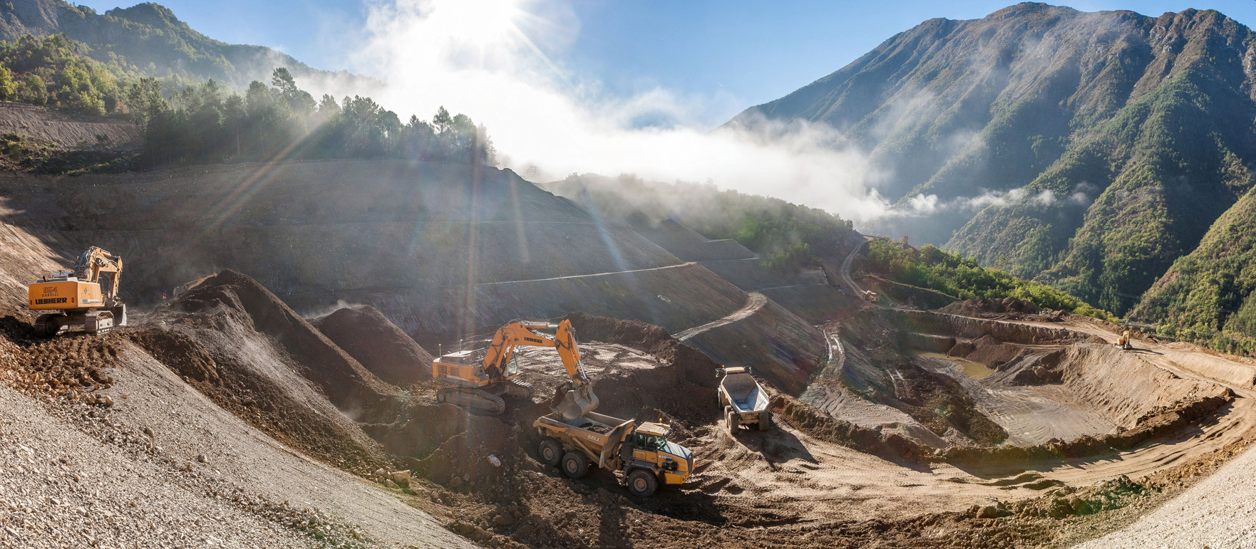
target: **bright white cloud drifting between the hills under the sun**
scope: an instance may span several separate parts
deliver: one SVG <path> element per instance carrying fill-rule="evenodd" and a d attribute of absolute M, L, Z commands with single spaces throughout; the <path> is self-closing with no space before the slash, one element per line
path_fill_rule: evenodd
<path fill-rule="evenodd" d="M 489 128 L 506 167 L 536 167 L 536 180 L 569 173 L 712 182 L 838 213 L 882 217 L 889 201 L 863 152 L 813 124 L 776 124 L 764 139 L 707 132 L 687 113 L 703 98 L 654 88 L 631 97 L 554 61 L 580 23 L 550 0 L 379 0 L 354 65 L 388 83 L 381 104 L 402 119 L 437 107 Z M 643 124 L 651 120 L 651 124 Z M 662 123 L 659 123 L 662 120 Z M 522 170 L 521 170 L 522 172 Z M 936 207 L 922 198 L 921 208 Z"/>

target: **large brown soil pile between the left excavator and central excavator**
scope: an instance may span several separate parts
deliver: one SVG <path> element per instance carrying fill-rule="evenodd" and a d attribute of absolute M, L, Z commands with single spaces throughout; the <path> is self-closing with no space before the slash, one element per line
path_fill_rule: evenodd
<path fill-rule="evenodd" d="M 350 417 L 394 417 L 404 397 L 256 281 L 224 271 L 127 335 L 254 427 L 358 473 L 392 459 Z"/>

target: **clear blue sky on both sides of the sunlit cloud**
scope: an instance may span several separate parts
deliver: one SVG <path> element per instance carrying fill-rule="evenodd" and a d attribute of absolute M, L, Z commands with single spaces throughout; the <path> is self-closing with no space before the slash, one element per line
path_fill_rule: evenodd
<path fill-rule="evenodd" d="M 117 0 L 80 4 L 104 11 Z M 227 41 L 280 49 L 322 69 L 349 69 L 345 54 L 362 33 L 365 5 L 335 0 L 163 0 L 193 29 Z M 697 98 L 711 124 L 779 98 L 850 63 L 896 33 L 931 18 L 976 19 L 1009 1 L 941 3 L 725 0 L 574 0 L 575 43 L 555 61 L 612 94 L 662 86 Z M 1187 8 L 1217 9 L 1256 25 L 1256 1 L 1181 0 L 1063 3 L 1093 11 L 1132 9 L 1144 15 Z M 131 5 L 124 3 L 123 5 Z M 359 69 L 360 70 L 360 69 Z"/>

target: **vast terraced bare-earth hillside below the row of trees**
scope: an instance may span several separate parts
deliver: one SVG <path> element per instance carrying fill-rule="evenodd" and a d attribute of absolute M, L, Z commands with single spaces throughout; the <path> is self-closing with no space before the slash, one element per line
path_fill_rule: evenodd
<path fill-rule="evenodd" d="M 371 305 L 421 341 L 570 311 L 682 331 L 746 301 L 707 268 L 491 168 L 334 160 L 15 174 L 0 180 L 0 258 L 10 259 L 0 285 L 10 298 L 100 246 L 126 258 L 122 291 L 133 305 L 232 268 L 304 313 Z M 711 257 L 749 252 L 702 244 L 716 248 Z M 9 305 L 21 308 L 20 298 Z"/>

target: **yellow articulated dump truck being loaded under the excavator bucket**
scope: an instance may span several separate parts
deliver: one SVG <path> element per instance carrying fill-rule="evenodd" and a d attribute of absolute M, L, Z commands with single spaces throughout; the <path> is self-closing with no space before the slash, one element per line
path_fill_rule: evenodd
<path fill-rule="evenodd" d="M 577 419 L 561 414 L 540 416 L 533 422 L 541 435 L 538 449 L 541 463 L 558 466 L 563 474 L 579 479 L 589 466 L 618 473 L 628 491 L 648 498 L 659 484 L 682 484 L 693 471 L 693 452 L 667 435 L 663 424 L 620 420 L 588 412 Z"/>

